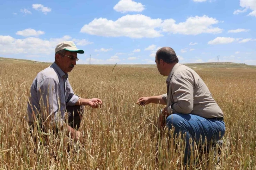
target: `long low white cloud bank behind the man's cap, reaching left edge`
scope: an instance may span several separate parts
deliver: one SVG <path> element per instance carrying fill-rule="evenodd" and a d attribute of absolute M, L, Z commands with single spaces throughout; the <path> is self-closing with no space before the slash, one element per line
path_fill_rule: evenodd
<path fill-rule="evenodd" d="M 70 36 L 61 38 L 40 39 L 38 37 L 27 37 L 15 39 L 11 36 L 0 35 L 0 54 L 28 53 L 54 55 L 56 45 L 63 40 L 72 40 Z"/>

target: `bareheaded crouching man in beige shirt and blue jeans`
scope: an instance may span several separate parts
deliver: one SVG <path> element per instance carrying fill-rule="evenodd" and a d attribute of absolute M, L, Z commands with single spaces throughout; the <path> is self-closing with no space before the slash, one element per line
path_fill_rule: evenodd
<path fill-rule="evenodd" d="M 159 73 L 168 76 L 167 93 L 159 96 L 140 97 L 137 103 L 166 105 L 159 115 L 159 124 L 175 128 L 175 133 L 186 133 L 184 163 L 189 160 L 189 139 L 196 143 L 202 136 L 202 143 L 220 140 L 225 133 L 223 112 L 201 77 L 189 67 L 178 64 L 175 51 L 163 47 L 156 53 Z M 166 120 L 165 120 L 166 118 Z"/>

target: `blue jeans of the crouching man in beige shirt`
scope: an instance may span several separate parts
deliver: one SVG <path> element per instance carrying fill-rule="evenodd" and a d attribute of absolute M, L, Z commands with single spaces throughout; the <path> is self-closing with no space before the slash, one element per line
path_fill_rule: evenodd
<path fill-rule="evenodd" d="M 216 118 L 207 119 L 193 114 L 171 114 L 166 119 L 166 125 L 169 128 L 173 126 L 175 128 L 175 134 L 179 132 L 182 134 L 186 133 L 184 163 L 186 163 L 190 157 L 189 138 L 192 138 L 193 143 L 196 141 L 196 144 L 198 144 L 200 135 L 202 135 L 201 142 L 203 144 L 205 138 L 207 142 L 211 142 L 211 140 L 214 142 L 220 140 L 225 133 L 224 121 L 217 120 Z"/>

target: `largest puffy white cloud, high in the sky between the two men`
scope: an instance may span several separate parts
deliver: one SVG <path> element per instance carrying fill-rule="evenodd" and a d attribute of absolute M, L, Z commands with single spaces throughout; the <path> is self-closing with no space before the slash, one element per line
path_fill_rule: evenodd
<path fill-rule="evenodd" d="M 160 30 L 156 30 L 161 22 L 161 19 L 151 19 L 141 14 L 125 15 L 116 21 L 96 18 L 85 24 L 80 32 L 105 37 L 153 38 L 163 36 Z"/>

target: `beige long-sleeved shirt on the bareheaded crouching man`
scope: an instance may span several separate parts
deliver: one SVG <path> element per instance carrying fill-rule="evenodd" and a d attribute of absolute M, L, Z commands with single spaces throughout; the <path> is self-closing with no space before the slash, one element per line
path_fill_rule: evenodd
<path fill-rule="evenodd" d="M 161 96 L 166 102 L 169 114 L 172 112 L 190 113 L 204 118 L 223 117 L 223 112 L 213 99 L 206 84 L 189 67 L 175 64 L 166 83 L 167 93 Z"/>

